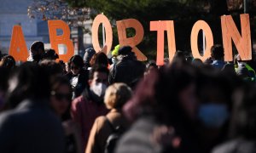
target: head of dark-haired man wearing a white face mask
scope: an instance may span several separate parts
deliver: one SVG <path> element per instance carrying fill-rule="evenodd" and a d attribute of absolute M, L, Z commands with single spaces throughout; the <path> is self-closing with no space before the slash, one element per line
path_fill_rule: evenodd
<path fill-rule="evenodd" d="M 102 65 L 92 67 L 89 75 L 90 91 L 103 98 L 108 87 L 108 68 Z"/>

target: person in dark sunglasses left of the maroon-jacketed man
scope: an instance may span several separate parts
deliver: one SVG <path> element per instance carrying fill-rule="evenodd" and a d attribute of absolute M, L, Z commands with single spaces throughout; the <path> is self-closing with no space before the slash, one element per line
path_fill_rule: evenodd
<path fill-rule="evenodd" d="M 70 83 L 65 77 L 56 77 L 51 85 L 50 105 L 62 122 L 66 139 L 65 153 L 81 153 L 79 130 L 70 115 L 71 101 L 72 88 Z"/>

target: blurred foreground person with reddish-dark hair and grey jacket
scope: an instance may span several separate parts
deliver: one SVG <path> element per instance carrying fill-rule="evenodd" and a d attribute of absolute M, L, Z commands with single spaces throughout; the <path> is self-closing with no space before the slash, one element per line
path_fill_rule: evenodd
<path fill-rule="evenodd" d="M 123 107 L 134 123 L 115 151 L 200 152 L 195 88 L 194 68 L 180 60 L 149 73 Z"/>

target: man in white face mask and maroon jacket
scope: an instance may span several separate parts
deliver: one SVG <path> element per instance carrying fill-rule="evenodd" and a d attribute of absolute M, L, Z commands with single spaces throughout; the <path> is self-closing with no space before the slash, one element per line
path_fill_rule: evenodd
<path fill-rule="evenodd" d="M 96 117 L 105 116 L 108 113 L 103 102 L 108 87 L 108 73 L 108 68 L 105 66 L 93 67 L 88 81 L 90 87 L 85 88 L 83 94 L 72 102 L 71 113 L 73 121 L 78 123 L 81 130 L 83 152 Z"/>

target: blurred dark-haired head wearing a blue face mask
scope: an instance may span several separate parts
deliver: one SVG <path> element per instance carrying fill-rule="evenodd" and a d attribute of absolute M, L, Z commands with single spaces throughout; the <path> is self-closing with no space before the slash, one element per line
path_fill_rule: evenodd
<path fill-rule="evenodd" d="M 229 121 L 232 88 L 220 71 L 205 67 L 198 78 L 198 121 L 201 127 L 221 129 Z"/>

